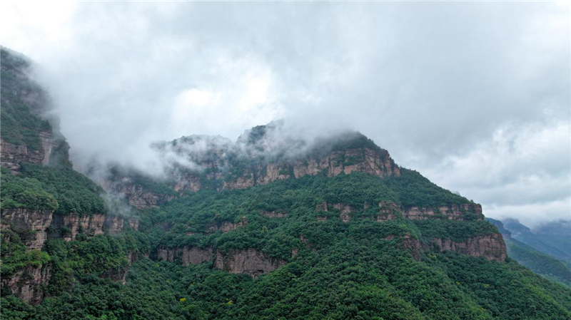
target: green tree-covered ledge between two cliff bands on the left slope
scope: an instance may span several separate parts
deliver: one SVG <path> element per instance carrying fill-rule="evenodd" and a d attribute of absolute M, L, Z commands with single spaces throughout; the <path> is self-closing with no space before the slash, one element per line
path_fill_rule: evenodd
<path fill-rule="evenodd" d="M 6 185 L 4 185 L 3 180 L 2 192 L 4 192 L 4 188 L 9 190 L 26 189 L 33 182 L 41 189 L 31 190 L 44 190 L 57 201 L 57 206 L 54 209 L 58 214 L 69 212 L 91 214 L 106 213 L 107 211 L 105 202 L 101 198 L 101 194 L 104 193 L 103 189 L 71 167 L 22 164 L 20 172 L 18 178 L 11 177 L 10 180 L 6 181 Z M 44 193 L 39 193 L 39 195 L 44 195 Z M 44 198 L 39 196 L 37 200 L 34 197 L 26 199 L 29 202 L 26 205 L 31 205 L 31 208 L 46 206 L 43 204 Z"/>

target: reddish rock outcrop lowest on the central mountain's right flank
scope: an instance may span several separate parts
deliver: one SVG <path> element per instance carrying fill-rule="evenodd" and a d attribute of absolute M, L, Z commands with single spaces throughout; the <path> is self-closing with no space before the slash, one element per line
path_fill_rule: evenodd
<path fill-rule="evenodd" d="M 502 235 L 499 233 L 478 235 L 462 242 L 451 239 L 432 239 L 430 246 L 439 252 L 453 251 L 470 257 L 485 257 L 490 261 L 503 262 L 507 251 Z"/>

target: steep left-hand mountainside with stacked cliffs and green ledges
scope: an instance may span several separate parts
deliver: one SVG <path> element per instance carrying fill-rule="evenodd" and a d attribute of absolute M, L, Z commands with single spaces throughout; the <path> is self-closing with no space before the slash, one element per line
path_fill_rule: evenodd
<path fill-rule="evenodd" d="M 1 48 L 0 62 L 1 291 L 38 304 L 54 291 L 54 277 L 73 278 L 62 276 L 69 273 L 62 271 L 65 263 L 46 253 L 49 242 L 116 234 L 138 220 L 123 222 L 110 212 L 101 187 L 73 170 L 57 120 L 45 118 L 49 97 L 29 78 L 28 59 Z"/>

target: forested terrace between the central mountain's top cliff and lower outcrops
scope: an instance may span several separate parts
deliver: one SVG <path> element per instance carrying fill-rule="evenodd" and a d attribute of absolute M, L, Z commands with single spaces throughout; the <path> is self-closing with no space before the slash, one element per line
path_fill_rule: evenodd
<path fill-rule="evenodd" d="M 378 215 L 380 201 L 404 202 L 408 190 L 398 186 L 407 183 L 395 184 L 391 180 L 408 179 L 409 175 L 379 179 L 353 172 L 335 177 L 315 175 L 279 180 L 247 190 L 201 190 L 153 211 L 153 223 L 168 226 L 168 232 L 161 239 L 161 244 L 167 247 L 216 247 L 223 252 L 256 248 L 272 257 L 287 260 L 292 247 L 304 247 L 299 239 L 302 234 L 315 248 L 332 244 L 337 241 L 338 234 L 350 232 L 351 228 L 372 228 L 378 232 L 377 236 L 389 235 L 380 232 L 379 224 L 370 223 L 370 217 Z M 430 182 L 424 185 L 420 182 L 417 187 L 425 188 L 428 196 L 424 202 L 427 204 L 448 205 L 453 200 L 457 202 L 452 203 L 457 204 L 469 203 L 447 190 L 434 188 Z M 330 204 L 327 212 L 320 209 L 323 202 Z M 353 208 L 351 219 L 358 224 L 345 224 L 340 220 L 338 210 L 333 209 L 336 203 L 350 205 Z M 270 211 L 287 212 L 288 215 L 280 219 L 261 215 Z M 465 212 L 465 215 L 470 215 L 470 212 Z M 317 221 L 318 216 L 328 217 L 328 220 Z M 225 222 L 238 224 L 243 221 L 247 223 L 233 232 L 216 233 L 216 229 Z M 492 224 L 485 221 L 427 220 L 415 224 L 400 218 L 382 225 L 393 234 L 422 234 L 427 239 L 444 237 L 458 241 L 476 234 L 497 232 Z"/>

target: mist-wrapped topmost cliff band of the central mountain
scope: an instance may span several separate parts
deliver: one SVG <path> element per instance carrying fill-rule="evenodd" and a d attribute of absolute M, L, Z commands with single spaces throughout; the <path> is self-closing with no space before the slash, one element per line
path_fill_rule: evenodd
<path fill-rule="evenodd" d="M 257 130 L 263 127 L 263 134 Z M 360 133 L 340 133 L 310 144 L 305 140 L 276 147 L 271 125 L 244 133 L 236 143 L 221 137 L 194 135 L 153 147 L 163 158 L 163 177 L 138 177 L 132 170 L 100 184 L 108 192 L 124 195 L 137 209 L 156 207 L 173 199 L 166 188 L 178 192 L 246 189 L 276 180 L 325 173 L 329 177 L 351 172 L 368 172 L 378 177 L 399 176 L 400 167 L 387 150 L 378 148 Z M 260 135 L 260 136 L 258 136 Z M 252 138 L 254 136 L 254 138 Z M 278 143 L 279 144 L 279 143 Z M 163 183 L 158 188 L 153 183 Z"/>

